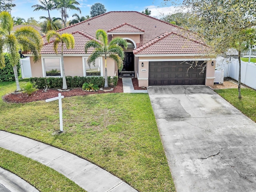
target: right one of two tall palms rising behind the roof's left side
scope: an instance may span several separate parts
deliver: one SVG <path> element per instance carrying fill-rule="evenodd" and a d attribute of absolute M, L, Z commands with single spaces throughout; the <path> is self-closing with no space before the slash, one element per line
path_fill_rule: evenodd
<path fill-rule="evenodd" d="M 68 18 L 68 10 L 77 10 L 81 14 L 81 10 L 79 7 L 75 5 L 80 5 L 79 2 L 76 0 L 54 0 L 57 9 L 60 10 L 62 20 L 64 21 L 64 27 L 67 25 L 67 18 Z"/>

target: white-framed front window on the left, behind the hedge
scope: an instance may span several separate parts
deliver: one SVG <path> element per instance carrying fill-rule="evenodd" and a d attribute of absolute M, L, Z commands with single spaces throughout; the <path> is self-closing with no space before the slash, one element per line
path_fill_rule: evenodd
<path fill-rule="evenodd" d="M 46 77 L 61 76 L 60 59 L 59 58 L 44 58 L 44 69 Z"/>

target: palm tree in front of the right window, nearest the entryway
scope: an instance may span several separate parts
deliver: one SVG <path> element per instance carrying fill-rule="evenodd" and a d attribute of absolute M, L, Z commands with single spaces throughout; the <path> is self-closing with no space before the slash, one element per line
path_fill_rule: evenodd
<path fill-rule="evenodd" d="M 123 60 L 124 60 L 124 50 L 121 46 L 124 46 L 127 49 L 127 42 L 122 38 L 114 38 L 108 43 L 108 35 L 102 29 L 96 31 L 96 40 L 88 41 L 84 50 L 87 53 L 90 47 L 93 47 L 94 50 L 92 54 L 88 57 L 87 63 L 90 66 L 93 64 L 95 66 L 96 58 L 100 56 L 105 57 L 105 84 L 104 87 L 108 87 L 108 73 L 107 73 L 107 57 L 112 58 L 119 70 L 123 68 Z"/>

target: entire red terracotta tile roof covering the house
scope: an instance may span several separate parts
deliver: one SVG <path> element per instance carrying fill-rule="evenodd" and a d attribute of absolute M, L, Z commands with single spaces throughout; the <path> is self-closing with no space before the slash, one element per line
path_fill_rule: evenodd
<path fill-rule="evenodd" d="M 83 53 L 84 44 L 95 38 L 98 29 L 103 29 L 106 32 L 144 32 L 144 34 L 140 34 L 140 43 L 137 44 L 140 50 L 137 49 L 136 54 L 201 53 L 205 48 L 202 41 L 197 40 L 198 36 L 195 33 L 184 28 L 136 11 L 113 11 L 58 30 L 60 34 L 76 32 L 76 46 L 79 46 L 74 50 L 65 50 L 65 53 Z M 159 36 L 160 38 L 158 38 Z M 43 38 L 46 43 L 45 36 Z M 108 38 L 111 40 L 112 36 L 108 35 Z M 156 41 L 157 38 L 158 41 Z M 150 44 L 152 45 L 148 46 Z M 52 47 L 46 44 L 42 48 L 42 54 L 54 53 L 50 49 Z"/>

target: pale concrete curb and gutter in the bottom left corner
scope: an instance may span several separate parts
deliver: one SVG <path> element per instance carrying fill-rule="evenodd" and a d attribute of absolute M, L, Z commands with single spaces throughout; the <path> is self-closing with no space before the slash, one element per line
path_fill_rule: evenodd
<path fill-rule="evenodd" d="M 39 192 L 22 178 L 0 167 L 0 192 Z"/>

